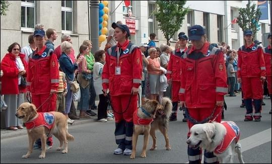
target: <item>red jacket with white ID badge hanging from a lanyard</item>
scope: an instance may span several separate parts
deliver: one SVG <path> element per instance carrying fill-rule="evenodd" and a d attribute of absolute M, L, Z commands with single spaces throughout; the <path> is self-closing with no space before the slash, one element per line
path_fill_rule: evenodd
<path fill-rule="evenodd" d="M 117 65 L 117 48 L 120 48 L 119 64 Z M 120 74 L 115 74 L 116 66 Z M 109 48 L 102 72 L 103 89 L 109 89 L 111 96 L 130 95 L 132 87 L 139 88 L 142 83 L 142 53 L 140 49 L 125 41 L 123 45 Z"/>

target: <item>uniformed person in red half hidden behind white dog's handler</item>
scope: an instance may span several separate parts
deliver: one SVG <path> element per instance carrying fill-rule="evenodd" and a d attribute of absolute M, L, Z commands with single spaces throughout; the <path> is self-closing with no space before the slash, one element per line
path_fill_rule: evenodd
<path fill-rule="evenodd" d="M 178 108 L 178 91 L 180 89 L 180 60 L 182 55 L 187 51 L 188 38 L 184 32 L 178 34 L 179 48 L 175 49 L 170 55 L 170 60 L 167 66 L 167 83 L 170 85 L 172 83 L 172 114 L 169 121 L 177 120 L 177 108 Z M 184 113 L 184 111 L 183 111 Z M 183 122 L 186 122 L 185 113 L 183 114 Z"/>

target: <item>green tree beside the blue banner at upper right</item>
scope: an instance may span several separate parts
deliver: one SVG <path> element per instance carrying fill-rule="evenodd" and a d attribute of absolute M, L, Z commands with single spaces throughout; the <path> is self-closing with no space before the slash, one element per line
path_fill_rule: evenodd
<path fill-rule="evenodd" d="M 243 30 L 250 29 L 253 33 L 253 36 L 260 29 L 258 24 L 261 16 L 260 10 L 256 7 L 255 4 L 251 5 L 251 2 L 248 1 L 246 8 L 239 8 L 239 16 L 237 18 L 237 23 Z"/>

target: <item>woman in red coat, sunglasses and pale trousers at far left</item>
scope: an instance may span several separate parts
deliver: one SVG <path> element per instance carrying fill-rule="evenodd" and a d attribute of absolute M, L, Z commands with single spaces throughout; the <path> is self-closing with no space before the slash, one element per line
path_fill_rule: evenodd
<path fill-rule="evenodd" d="M 15 116 L 16 109 L 24 103 L 26 83 L 21 84 L 22 78 L 26 77 L 27 62 L 25 55 L 20 53 L 21 46 L 13 43 L 8 48 L 9 53 L 1 62 L 1 69 L 4 75 L 1 77 L 1 95 L 8 105 L 6 110 L 6 127 L 9 130 L 23 129 L 22 122 Z"/>

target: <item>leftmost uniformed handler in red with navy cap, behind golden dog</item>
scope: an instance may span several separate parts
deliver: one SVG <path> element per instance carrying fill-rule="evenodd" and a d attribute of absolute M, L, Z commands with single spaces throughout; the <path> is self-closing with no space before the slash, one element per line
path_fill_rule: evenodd
<path fill-rule="evenodd" d="M 58 87 L 58 62 L 54 51 L 45 46 L 43 30 L 34 32 L 34 42 L 37 49 L 29 56 L 27 89 L 31 93 L 32 103 L 37 112 L 50 112 L 56 109 L 56 90 Z M 48 137 L 49 148 L 53 144 L 52 137 Z M 41 147 L 40 139 L 34 148 Z"/>

